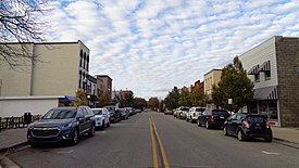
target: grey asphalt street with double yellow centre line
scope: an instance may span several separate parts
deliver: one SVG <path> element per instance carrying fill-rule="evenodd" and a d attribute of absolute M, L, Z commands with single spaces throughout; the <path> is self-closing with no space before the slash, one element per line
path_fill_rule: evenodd
<path fill-rule="evenodd" d="M 27 147 L 8 157 L 24 168 L 298 168 L 299 150 L 207 130 L 162 113 L 140 113 L 75 146 Z"/>

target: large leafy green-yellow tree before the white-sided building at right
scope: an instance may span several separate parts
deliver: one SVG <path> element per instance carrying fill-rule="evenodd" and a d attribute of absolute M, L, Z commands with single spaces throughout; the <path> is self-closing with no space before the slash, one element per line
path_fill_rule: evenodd
<path fill-rule="evenodd" d="M 223 68 L 217 86 L 213 86 L 213 102 L 217 106 L 236 112 L 250 104 L 254 94 L 253 87 L 238 56 L 235 56 L 233 64 Z M 228 99 L 233 99 L 233 104 L 228 104 Z"/>

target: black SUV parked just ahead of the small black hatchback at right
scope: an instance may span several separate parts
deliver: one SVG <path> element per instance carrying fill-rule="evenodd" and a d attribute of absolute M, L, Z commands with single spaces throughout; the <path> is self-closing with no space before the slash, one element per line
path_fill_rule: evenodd
<path fill-rule="evenodd" d="M 205 109 L 197 119 L 197 125 L 210 128 L 223 128 L 224 121 L 229 117 L 229 113 L 225 109 Z"/>

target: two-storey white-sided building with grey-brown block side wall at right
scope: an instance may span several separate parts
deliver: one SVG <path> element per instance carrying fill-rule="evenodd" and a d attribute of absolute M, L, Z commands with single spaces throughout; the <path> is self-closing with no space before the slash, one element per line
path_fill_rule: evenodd
<path fill-rule="evenodd" d="M 275 36 L 239 56 L 254 82 L 249 111 L 282 127 L 299 127 L 299 38 Z"/>

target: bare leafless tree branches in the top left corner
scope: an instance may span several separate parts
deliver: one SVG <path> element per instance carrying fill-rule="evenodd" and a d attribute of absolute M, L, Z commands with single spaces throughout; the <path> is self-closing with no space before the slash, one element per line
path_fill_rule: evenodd
<path fill-rule="evenodd" d="M 43 31 L 49 24 L 42 16 L 49 11 L 47 0 L 4 0 L 0 4 L 0 65 L 7 63 L 15 68 L 38 61 L 27 42 L 46 41 Z"/>

